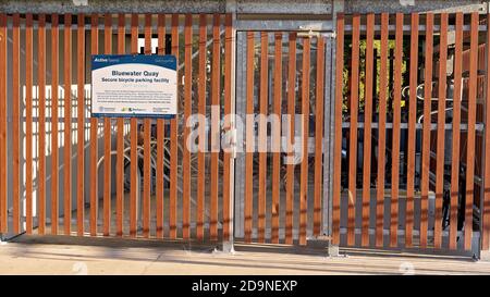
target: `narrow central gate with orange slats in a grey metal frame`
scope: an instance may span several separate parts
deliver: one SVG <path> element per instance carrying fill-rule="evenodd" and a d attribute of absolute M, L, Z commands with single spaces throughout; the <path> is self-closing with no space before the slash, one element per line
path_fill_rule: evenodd
<path fill-rule="evenodd" d="M 244 146 L 234 221 L 245 243 L 306 245 L 328 232 L 331 29 L 322 21 L 237 22 L 236 113 L 244 126 L 237 143 Z"/>

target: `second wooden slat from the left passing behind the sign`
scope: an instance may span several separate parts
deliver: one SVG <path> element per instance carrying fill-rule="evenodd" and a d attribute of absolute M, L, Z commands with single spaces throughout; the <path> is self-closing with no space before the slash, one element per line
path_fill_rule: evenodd
<path fill-rule="evenodd" d="M 112 15 L 103 17 L 103 53 L 112 53 Z M 103 119 L 103 236 L 111 231 L 111 119 Z"/>

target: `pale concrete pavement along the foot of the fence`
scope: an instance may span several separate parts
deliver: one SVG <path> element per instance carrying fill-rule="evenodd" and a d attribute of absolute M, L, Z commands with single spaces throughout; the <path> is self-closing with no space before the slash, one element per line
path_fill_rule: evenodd
<path fill-rule="evenodd" d="M 0 274 L 490 274 L 490 262 L 393 251 L 119 238 L 21 236 L 0 245 Z"/>

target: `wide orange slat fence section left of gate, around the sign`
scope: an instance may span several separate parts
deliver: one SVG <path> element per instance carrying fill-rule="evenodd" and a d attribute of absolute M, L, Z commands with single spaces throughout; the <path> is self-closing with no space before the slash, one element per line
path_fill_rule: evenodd
<path fill-rule="evenodd" d="M 229 238 L 232 156 L 215 140 L 231 125 L 232 26 L 231 14 L 0 14 L 0 233 Z M 95 53 L 176 55 L 177 116 L 90 117 Z"/>

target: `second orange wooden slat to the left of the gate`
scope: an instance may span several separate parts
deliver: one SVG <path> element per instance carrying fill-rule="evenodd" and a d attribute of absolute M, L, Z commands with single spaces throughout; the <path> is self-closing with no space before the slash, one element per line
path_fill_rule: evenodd
<path fill-rule="evenodd" d="M 219 137 L 220 119 L 220 15 L 213 15 L 212 24 L 212 66 L 211 66 L 211 104 L 217 113 L 216 117 L 211 116 L 211 222 L 210 222 L 210 239 L 218 239 L 218 158 L 219 146 L 216 147 L 216 137 Z"/>

